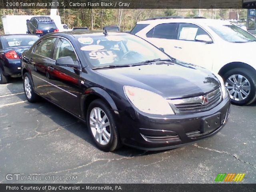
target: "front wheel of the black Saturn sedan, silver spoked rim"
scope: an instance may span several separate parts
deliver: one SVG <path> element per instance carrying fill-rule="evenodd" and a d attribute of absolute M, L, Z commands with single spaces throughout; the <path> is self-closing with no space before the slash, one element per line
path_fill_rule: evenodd
<path fill-rule="evenodd" d="M 99 118 L 98 114 L 100 114 Z M 86 122 L 88 130 L 100 150 L 109 152 L 122 146 L 114 115 L 105 102 L 97 99 L 90 103 L 86 114 Z M 107 126 L 104 126 L 103 122 Z"/>

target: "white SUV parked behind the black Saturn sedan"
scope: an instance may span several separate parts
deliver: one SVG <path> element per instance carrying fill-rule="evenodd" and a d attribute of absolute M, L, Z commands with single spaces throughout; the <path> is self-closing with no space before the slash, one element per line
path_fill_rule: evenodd
<path fill-rule="evenodd" d="M 256 37 L 238 26 L 212 19 L 159 19 L 131 30 L 170 56 L 220 74 L 234 104 L 256 100 Z"/>

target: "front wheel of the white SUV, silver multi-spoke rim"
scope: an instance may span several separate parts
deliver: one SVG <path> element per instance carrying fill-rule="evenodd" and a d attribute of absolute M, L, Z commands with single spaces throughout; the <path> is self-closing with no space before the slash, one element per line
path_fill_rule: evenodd
<path fill-rule="evenodd" d="M 232 104 L 248 105 L 256 100 L 256 72 L 246 68 L 235 68 L 223 76 Z"/>

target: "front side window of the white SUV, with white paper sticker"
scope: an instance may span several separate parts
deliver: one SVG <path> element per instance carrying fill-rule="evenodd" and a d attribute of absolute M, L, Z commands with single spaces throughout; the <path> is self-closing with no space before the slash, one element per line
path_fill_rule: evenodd
<path fill-rule="evenodd" d="M 178 40 L 194 41 L 198 35 L 208 35 L 208 33 L 195 24 L 180 23 L 178 30 Z M 210 36 L 209 36 L 210 37 Z"/>

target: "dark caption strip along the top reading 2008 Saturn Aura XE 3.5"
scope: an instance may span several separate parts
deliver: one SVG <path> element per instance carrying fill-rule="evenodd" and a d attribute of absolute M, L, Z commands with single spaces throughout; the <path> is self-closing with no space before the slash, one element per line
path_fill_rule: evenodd
<path fill-rule="evenodd" d="M 242 0 L 0 0 L 5 9 L 168 9 L 168 8 L 242 8 Z"/>

